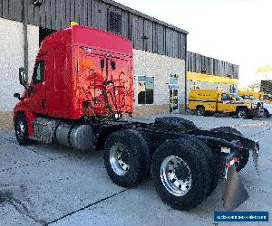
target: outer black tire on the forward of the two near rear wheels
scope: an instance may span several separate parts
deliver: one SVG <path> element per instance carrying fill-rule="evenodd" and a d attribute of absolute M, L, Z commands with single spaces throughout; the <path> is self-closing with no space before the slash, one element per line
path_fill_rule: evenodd
<path fill-rule="evenodd" d="M 126 155 L 126 161 L 129 164 L 129 169 L 124 174 L 118 174 L 116 167 L 111 162 L 111 153 L 113 152 L 111 150 L 117 144 L 121 144 L 125 148 L 126 154 L 128 154 Z M 150 174 L 151 169 L 151 155 L 147 141 L 140 132 L 133 129 L 113 132 L 105 142 L 104 165 L 114 184 L 131 187 L 139 183 Z M 119 166 L 117 163 L 117 167 Z"/>

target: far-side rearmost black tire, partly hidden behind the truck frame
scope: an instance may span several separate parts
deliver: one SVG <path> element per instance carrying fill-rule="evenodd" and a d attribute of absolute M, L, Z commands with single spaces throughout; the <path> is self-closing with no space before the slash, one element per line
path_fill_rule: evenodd
<path fill-rule="evenodd" d="M 233 127 L 217 127 L 217 128 L 211 129 L 210 131 L 236 134 L 238 136 L 243 137 L 243 134 Z M 247 149 L 243 149 L 242 153 L 239 155 L 239 159 L 240 159 L 240 162 L 237 167 L 238 172 L 241 171 L 241 169 L 243 169 L 248 164 L 249 151 Z"/>

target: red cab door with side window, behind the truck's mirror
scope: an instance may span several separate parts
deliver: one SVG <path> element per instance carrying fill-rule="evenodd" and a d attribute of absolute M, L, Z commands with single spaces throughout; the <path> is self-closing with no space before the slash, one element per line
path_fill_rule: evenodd
<path fill-rule="evenodd" d="M 46 113 L 44 60 L 37 60 L 34 65 L 32 81 L 29 86 L 30 108 L 34 113 Z"/>

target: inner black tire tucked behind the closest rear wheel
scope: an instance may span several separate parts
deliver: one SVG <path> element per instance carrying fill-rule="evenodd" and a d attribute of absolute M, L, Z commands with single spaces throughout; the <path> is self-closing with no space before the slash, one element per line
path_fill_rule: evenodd
<path fill-rule="evenodd" d="M 207 190 L 207 196 L 209 196 L 217 187 L 217 185 L 219 184 L 219 154 L 218 153 L 214 153 L 209 146 L 203 142 L 202 140 L 199 140 L 198 138 L 195 137 L 190 137 L 189 138 L 191 142 L 193 142 L 194 144 L 196 144 L 197 146 L 199 146 L 199 151 L 202 151 L 209 163 L 209 168 L 210 168 L 210 189 Z"/>

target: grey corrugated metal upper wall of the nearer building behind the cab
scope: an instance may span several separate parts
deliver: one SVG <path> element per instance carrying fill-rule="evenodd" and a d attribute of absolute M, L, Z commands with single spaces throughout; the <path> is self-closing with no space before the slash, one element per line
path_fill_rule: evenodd
<path fill-rule="evenodd" d="M 135 49 L 185 59 L 187 33 L 110 0 L 0 0 L 0 17 L 22 22 L 23 1 L 27 1 L 28 24 L 53 30 L 68 27 L 71 21 L 108 31 L 109 12 L 121 14 L 121 34 Z"/>

